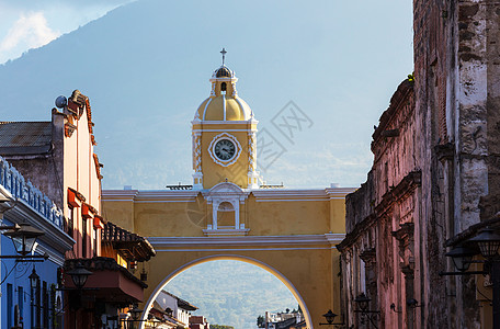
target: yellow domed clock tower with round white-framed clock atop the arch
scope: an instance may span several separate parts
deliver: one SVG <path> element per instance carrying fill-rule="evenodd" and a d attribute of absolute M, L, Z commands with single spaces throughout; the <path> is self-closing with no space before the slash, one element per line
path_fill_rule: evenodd
<path fill-rule="evenodd" d="M 211 95 L 192 121 L 193 190 L 207 190 L 221 182 L 241 189 L 259 188 L 257 124 L 250 106 L 238 97 L 235 72 L 224 65 L 211 78 Z"/>

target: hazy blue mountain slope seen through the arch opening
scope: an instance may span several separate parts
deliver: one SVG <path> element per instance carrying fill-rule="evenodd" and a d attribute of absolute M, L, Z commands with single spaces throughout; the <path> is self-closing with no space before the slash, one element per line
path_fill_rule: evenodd
<path fill-rule="evenodd" d="M 285 285 L 271 273 L 239 261 L 213 261 L 174 277 L 166 290 L 200 307 L 195 315 L 235 329 L 255 328 L 265 310 L 297 308 Z"/>

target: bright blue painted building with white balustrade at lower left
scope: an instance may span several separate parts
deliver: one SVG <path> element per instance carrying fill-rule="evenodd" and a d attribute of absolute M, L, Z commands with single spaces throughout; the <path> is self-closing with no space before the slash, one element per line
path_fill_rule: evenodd
<path fill-rule="evenodd" d="M 63 212 L 0 157 L 0 218 L 2 225 L 29 224 L 42 231 L 33 254 L 37 262 L 1 259 L 1 328 L 63 328 L 66 310 L 58 291 L 58 268 L 75 240 L 65 232 Z M 1 256 L 15 256 L 12 240 L 1 235 Z M 38 280 L 32 287 L 29 276 Z M 18 327 L 15 327 L 18 326 Z"/>

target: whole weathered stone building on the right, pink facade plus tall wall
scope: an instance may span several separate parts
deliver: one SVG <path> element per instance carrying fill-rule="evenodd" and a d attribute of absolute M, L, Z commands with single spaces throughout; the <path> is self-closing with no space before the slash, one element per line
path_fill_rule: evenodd
<path fill-rule="evenodd" d="M 350 302 L 366 293 L 379 328 L 491 326 L 482 275 L 439 273 L 455 271 L 451 248 L 498 222 L 499 27 L 499 2 L 413 1 L 414 114 L 397 127 L 384 113 L 367 182 L 348 197 L 350 325 L 359 318 Z M 395 128 L 399 136 L 382 138 Z"/>

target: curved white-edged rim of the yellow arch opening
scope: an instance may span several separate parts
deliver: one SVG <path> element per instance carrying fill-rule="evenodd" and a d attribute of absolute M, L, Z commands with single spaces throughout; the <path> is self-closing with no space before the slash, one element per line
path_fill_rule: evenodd
<path fill-rule="evenodd" d="M 276 276 L 292 292 L 292 294 L 294 295 L 295 299 L 298 302 L 298 305 L 300 306 L 300 309 L 303 310 L 307 328 L 312 328 L 310 314 L 309 314 L 309 310 L 308 310 L 303 297 L 298 293 L 297 288 L 282 273 L 280 273 L 277 270 L 273 269 L 272 266 L 270 266 L 270 265 L 268 265 L 268 264 L 265 264 L 265 263 L 263 263 L 263 262 L 261 262 L 259 260 L 255 260 L 255 259 L 249 258 L 249 257 L 245 257 L 245 256 L 236 256 L 236 254 L 220 254 L 220 256 L 203 257 L 203 258 L 200 258 L 197 260 L 191 261 L 191 262 L 186 263 L 185 265 L 177 269 L 172 273 L 170 273 L 160 284 L 157 285 L 157 287 L 155 288 L 152 294 L 149 296 L 149 299 L 147 300 L 147 303 L 146 303 L 146 305 L 144 307 L 144 313 L 143 313 L 141 319 L 145 320 L 147 318 L 149 308 L 152 306 L 152 303 L 158 297 L 158 295 L 161 292 L 161 290 L 173 277 L 175 277 L 177 275 L 179 275 L 180 273 L 184 272 L 185 270 L 188 270 L 188 269 L 190 269 L 192 266 L 195 266 L 195 265 L 198 265 L 198 264 L 202 264 L 202 263 L 205 263 L 205 262 L 209 262 L 209 261 L 216 261 L 216 260 L 242 261 L 242 262 L 246 262 L 246 263 L 250 263 L 250 264 L 257 265 L 257 266 L 268 271 L 269 273 L 273 274 L 274 276 Z M 145 322 L 141 322 L 141 327 L 140 328 L 144 328 L 144 324 Z"/>

